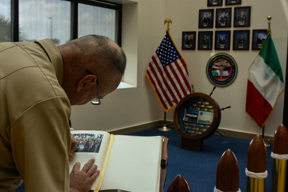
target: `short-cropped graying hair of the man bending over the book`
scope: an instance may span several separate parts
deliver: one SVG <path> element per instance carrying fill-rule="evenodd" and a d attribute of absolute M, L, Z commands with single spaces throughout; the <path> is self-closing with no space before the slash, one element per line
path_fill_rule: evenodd
<path fill-rule="evenodd" d="M 66 43 L 74 55 L 74 69 L 115 81 L 124 76 L 127 58 L 119 45 L 102 35 L 86 35 Z M 103 82 L 104 83 L 104 82 Z"/>

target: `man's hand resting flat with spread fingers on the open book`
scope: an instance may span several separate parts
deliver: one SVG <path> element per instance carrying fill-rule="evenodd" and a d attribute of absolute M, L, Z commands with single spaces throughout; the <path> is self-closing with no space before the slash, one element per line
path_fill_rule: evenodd
<path fill-rule="evenodd" d="M 92 183 L 99 176 L 97 165 L 93 165 L 95 159 L 90 159 L 80 171 L 80 163 L 77 162 L 70 173 L 70 192 L 88 192 Z"/>

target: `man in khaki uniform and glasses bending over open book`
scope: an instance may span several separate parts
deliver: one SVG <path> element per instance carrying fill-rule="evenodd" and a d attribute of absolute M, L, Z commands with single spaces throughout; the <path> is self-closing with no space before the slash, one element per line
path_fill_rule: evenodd
<path fill-rule="evenodd" d="M 5 42 L 0 61 L 0 191 L 14 191 L 23 180 L 25 191 L 89 191 L 99 175 L 94 159 L 69 175 L 69 153 L 77 148 L 71 105 L 117 88 L 123 50 L 98 35 L 58 47 L 50 39 Z"/>

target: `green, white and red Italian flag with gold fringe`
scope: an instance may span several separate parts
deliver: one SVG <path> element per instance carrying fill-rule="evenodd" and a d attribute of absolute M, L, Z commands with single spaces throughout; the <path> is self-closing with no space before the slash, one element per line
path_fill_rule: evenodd
<path fill-rule="evenodd" d="M 246 113 L 263 128 L 283 92 L 282 69 L 269 30 L 259 54 L 249 67 Z"/>

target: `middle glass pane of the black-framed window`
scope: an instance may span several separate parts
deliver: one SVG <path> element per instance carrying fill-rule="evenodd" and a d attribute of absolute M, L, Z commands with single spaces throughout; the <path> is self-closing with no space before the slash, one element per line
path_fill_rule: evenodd
<path fill-rule="evenodd" d="M 69 1 L 19 0 L 19 41 L 49 38 L 56 45 L 70 41 Z"/>

